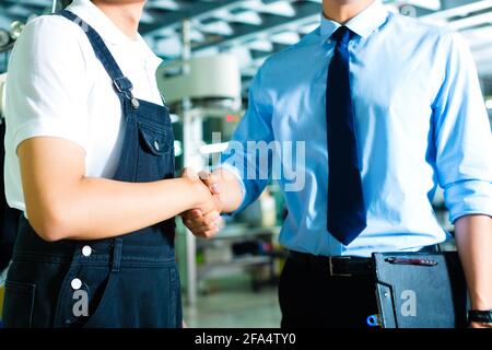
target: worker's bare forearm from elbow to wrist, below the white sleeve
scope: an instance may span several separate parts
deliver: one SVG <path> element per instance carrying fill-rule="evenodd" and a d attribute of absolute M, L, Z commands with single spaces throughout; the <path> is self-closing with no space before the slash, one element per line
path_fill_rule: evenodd
<path fill-rule="evenodd" d="M 197 186 L 184 178 L 134 184 L 87 177 L 66 188 L 49 202 L 31 201 L 31 208 L 38 206 L 36 210 L 27 206 L 33 226 L 50 241 L 126 234 L 173 218 L 202 200 Z"/>

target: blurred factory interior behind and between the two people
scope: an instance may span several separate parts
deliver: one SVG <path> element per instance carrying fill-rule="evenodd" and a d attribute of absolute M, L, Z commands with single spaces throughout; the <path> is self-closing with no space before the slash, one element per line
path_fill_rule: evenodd
<path fill-rule="evenodd" d="M 69 2 L 0 0 L 0 73 L 8 71 L 9 54 L 23 25 Z M 492 1 L 384 2 L 390 11 L 464 35 L 476 59 L 492 117 Z M 185 164 L 196 170 L 213 166 L 247 108 L 248 88 L 257 69 L 268 56 L 295 44 L 319 25 L 320 3 L 321 0 L 147 1 L 140 33 L 164 60 L 156 79 L 173 113 L 178 171 Z M 435 209 L 442 225 L 453 231 L 441 192 Z M 246 211 L 226 218 L 225 228 L 212 240 L 196 240 L 178 220 L 177 252 L 189 326 L 280 325 L 277 281 L 285 252 L 278 244 L 278 234 L 284 210 L 278 186 L 271 183 Z M 12 215 L 15 213 L 2 210 L 0 249 L 11 244 L 4 223 Z M 8 257 L 0 250 L 0 270 L 7 267 Z"/>

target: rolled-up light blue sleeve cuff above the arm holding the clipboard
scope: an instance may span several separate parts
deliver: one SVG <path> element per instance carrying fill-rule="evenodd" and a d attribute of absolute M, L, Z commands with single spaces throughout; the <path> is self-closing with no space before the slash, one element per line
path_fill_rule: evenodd
<path fill-rule="evenodd" d="M 483 214 L 492 217 L 492 183 L 466 180 L 455 183 L 444 190 L 449 209 L 449 220 L 455 222 L 464 215 Z"/>

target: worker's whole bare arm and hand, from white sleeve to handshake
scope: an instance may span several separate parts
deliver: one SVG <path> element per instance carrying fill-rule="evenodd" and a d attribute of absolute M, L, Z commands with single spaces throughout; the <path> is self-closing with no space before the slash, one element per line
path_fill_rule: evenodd
<path fill-rule="evenodd" d="M 150 226 L 216 202 L 198 179 L 122 183 L 85 177 L 84 152 L 57 138 L 33 138 L 17 149 L 30 223 L 46 241 L 96 240 Z"/>

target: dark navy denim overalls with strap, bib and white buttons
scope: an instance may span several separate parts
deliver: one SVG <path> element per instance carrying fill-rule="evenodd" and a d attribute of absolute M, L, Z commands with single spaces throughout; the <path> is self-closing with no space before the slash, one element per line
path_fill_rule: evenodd
<path fill-rule="evenodd" d="M 134 98 L 101 36 L 73 13 L 58 14 L 84 30 L 121 102 L 125 136 L 113 179 L 174 177 L 167 107 Z M 116 238 L 47 243 L 23 217 L 5 283 L 5 327 L 180 327 L 174 236 L 171 219 Z"/>

